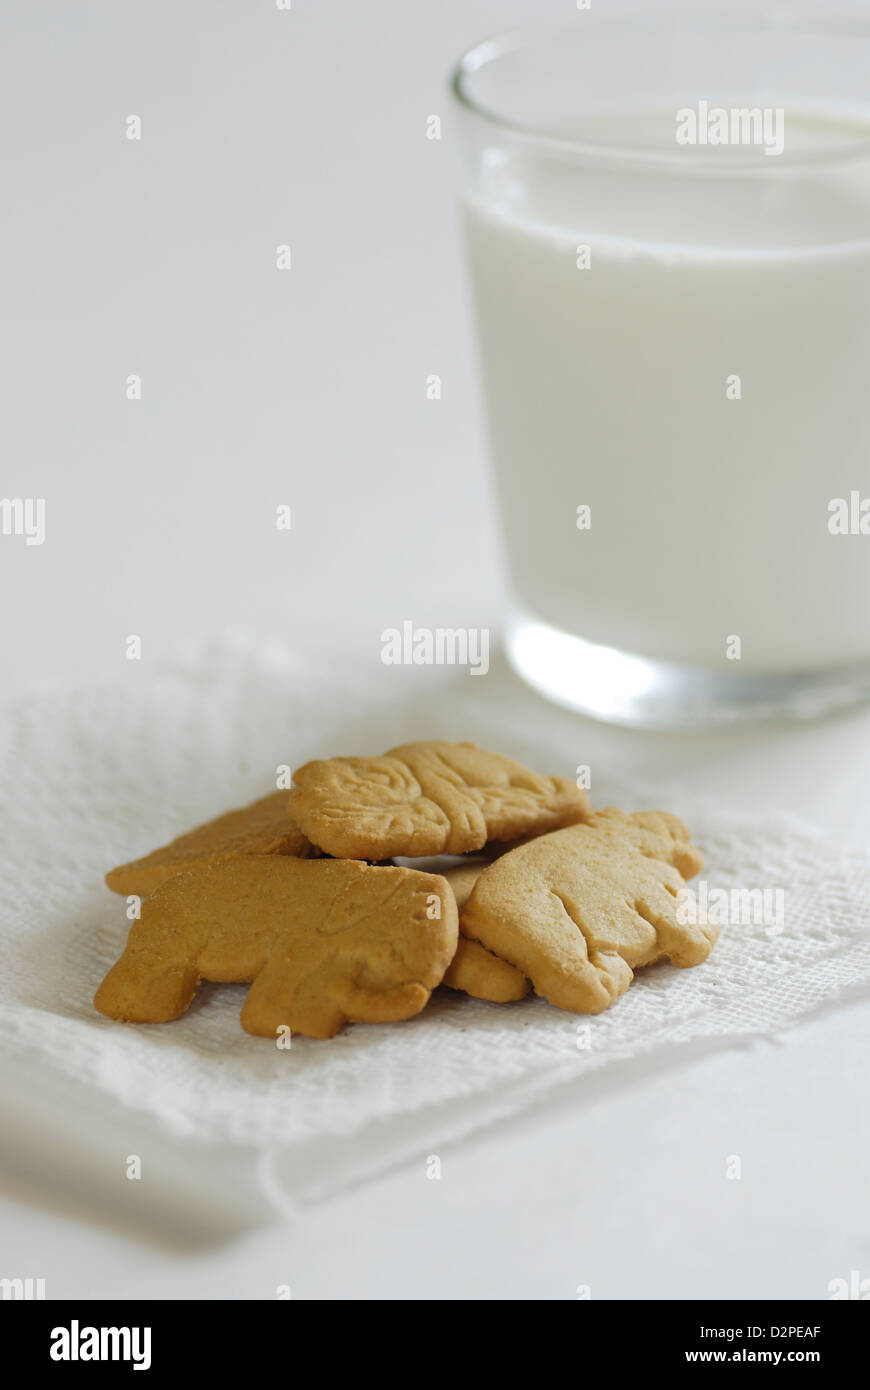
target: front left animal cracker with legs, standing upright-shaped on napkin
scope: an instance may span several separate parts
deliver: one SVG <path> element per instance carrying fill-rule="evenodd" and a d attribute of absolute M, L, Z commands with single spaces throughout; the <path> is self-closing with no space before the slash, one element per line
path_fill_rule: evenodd
<path fill-rule="evenodd" d="M 163 1023 L 185 1012 L 200 980 L 252 981 L 243 1029 L 327 1038 L 346 1020 L 420 1013 L 456 937 L 456 901 L 438 874 L 242 855 L 175 874 L 145 901 L 95 1005 Z"/>

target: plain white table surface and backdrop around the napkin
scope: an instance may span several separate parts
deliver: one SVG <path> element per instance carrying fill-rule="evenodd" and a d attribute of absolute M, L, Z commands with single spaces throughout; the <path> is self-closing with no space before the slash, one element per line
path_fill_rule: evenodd
<path fill-rule="evenodd" d="M 4 692 L 111 677 L 129 632 L 157 664 L 233 626 L 342 644 L 498 624 L 454 152 L 424 124 L 463 46 L 563 8 L 4 8 L 3 486 L 49 507 L 44 546 L 0 546 Z M 577 739 L 621 777 L 870 844 L 867 712 L 685 738 L 578 719 Z M 860 997 L 607 1069 L 445 1147 L 441 1182 L 421 1154 L 289 1223 L 243 1193 L 217 1211 L 160 1180 L 110 1190 L 85 1131 L 118 1116 L 71 1118 L 0 1066 L 0 1276 L 49 1297 L 826 1298 L 870 1276 L 869 1042 Z"/>

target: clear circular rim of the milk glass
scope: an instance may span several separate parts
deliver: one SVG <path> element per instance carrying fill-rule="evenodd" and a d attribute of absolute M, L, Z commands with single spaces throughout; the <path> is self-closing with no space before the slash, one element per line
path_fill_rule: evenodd
<path fill-rule="evenodd" d="M 660 33 L 663 24 L 670 22 L 670 28 L 674 29 L 674 19 L 680 21 L 678 28 L 681 31 L 693 29 L 698 33 L 750 31 L 755 33 L 780 32 L 806 35 L 851 35 L 864 40 L 870 39 L 870 17 L 867 15 L 867 11 L 864 10 L 863 13 L 859 13 L 856 10 L 845 8 L 828 11 L 826 15 L 813 15 L 806 10 L 791 13 L 780 11 L 770 15 L 757 15 L 750 14 L 749 11 L 742 14 L 717 11 L 710 15 L 692 15 L 689 11 L 671 8 L 664 14 L 656 15 L 655 19 L 646 18 L 642 14 L 627 14 L 624 17 L 607 17 L 603 19 L 596 18 L 595 35 L 602 36 L 603 33 L 609 33 L 610 36 L 614 36 L 617 33 Z M 600 140 L 584 140 L 567 135 L 555 135 L 552 131 L 528 125 L 523 121 L 514 121 L 510 117 L 500 114 L 498 110 L 484 106 L 471 96 L 468 90 L 471 79 L 491 63 L 496 63 L 506 54 L 516 53 L 520 49 L 531 49 L 535 39 L 542 39 L 548 33 L 570 33 L 575 36 L 577 32 L 575 25 L 568 24 L 564 19 L 555 19 L 503 29 L 491 38 L 473 43 L 457 58 L 449 72 L 449 90 L 454 101 L 463 111 L 477 117 L 502 133 L 509 133 L 530 143 L 548 147 L 553 150 L 553 153 L 560 153 L 561 156 L 573 156 L 577 160 L 592 157 L 599 163 L 653 164 L 666 165 L 668 168 L 681 168 L 684 172 L 691 168 L 693 172 L 703 172 L 705 175 L 739 174 L 741 177 L 760 172 L 775 174 L 777 167 L 782 168 L 784 165 L 792 170 L 796 167 L 821 168 L 831 164 L 870 160 L 869 133 L 866 140 L 853 140 L 848 145 L 838 145 L 821 152 L 805 152 L 802 154 L 788 154 L 787 152 L 782 152 L 777 156 L 775 161 L 769 160 L 764 164 L 759 164 L 757 157 L 753 158 L 752 156 L 746 156 L 731 157 L 727 164 L 723 163 L 716 165 L 710 161 L 705 161 L 702 165 L 696 156 L 692 157 L 692 154 L 689 154 L 687 158 L 687 147 L 675 147 L 673 150 L 650 149 L 646 146 L 605 143 Z M 595 35 L 589 35 L 589 38 L 592 39 Z M 870 95 L 867 101 L 867 129 L 870 132 Z"/>

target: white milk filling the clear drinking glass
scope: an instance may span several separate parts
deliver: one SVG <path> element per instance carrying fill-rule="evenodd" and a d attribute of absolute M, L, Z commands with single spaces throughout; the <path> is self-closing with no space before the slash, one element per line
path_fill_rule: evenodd
<path fill-rule="evenodd" d="M 787 122 L 787 150 L 855 139 L 849 121 Z M 638 120 L 638 142 L 649 129 Z M 707 669 L 734 670 L 734 635 L 748 673 L 870 657 L 870 535 L 828 530 L 834 498 L 870 498 L 867 167 L 771 175 L 699 196 L 653 174 L 639 197 L 607 171 L 493 152 L 467 232 L 507 559 L 532 617 Z"/>

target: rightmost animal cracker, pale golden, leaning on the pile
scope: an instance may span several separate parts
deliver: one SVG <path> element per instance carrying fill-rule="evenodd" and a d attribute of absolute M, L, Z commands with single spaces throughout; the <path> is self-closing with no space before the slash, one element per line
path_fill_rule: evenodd
<path fill-rule="evenodd" d="M 599 1013 L 639 966 L 664 956 L 678 966 L 706 960 L 719 929 L 677 920 L 677 895 L 702 863 L 677 816 L 596 812 L 485 869 L 461 930 L 510 960 L 550 1004 Z"/>

